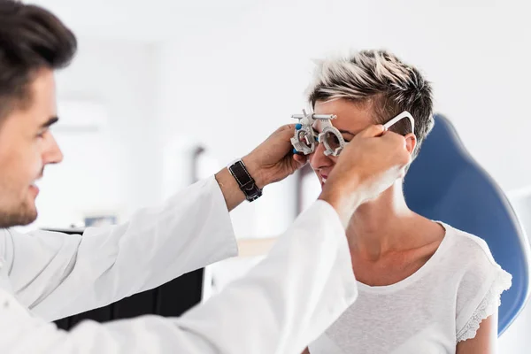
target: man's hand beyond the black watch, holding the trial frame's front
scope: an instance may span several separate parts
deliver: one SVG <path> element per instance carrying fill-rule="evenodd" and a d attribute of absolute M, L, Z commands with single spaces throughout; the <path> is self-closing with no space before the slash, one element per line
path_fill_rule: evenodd
<path fill-rule="evenodd" d="M 293 146 L 289 139 L 294 132 L 295 125 L 282 126 L 258 145 L 258 148 L 242 158 L 258 188 L 282 181 L 306 163 L 305 157 L 294 158 L 291 153 Z"/>

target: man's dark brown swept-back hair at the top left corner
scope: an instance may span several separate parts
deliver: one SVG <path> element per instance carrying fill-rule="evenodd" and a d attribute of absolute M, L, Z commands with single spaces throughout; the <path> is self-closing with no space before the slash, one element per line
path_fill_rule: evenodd
<path fill-rule="evenodd" d="M 0 123 L 31 102 L 29 84 L 35 73 L 69 65 L 76 50 L 72 31 L 51 12 L 0 0 Z"/>

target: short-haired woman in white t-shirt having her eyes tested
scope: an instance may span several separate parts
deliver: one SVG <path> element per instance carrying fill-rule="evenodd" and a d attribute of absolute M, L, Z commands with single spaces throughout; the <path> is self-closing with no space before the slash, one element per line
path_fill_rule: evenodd
<path fill-rule="evenodd" d="M 336 116 L 345 142 L 410 112 L 414 129 L 402 119 L 390 130 L 406 137 L 412 158 L 434 124 L 430 84 L 385 51 L 321 62 L 308 98 L 316 114 Z M 321 124 L 313 127 L 319 135 Z M 318 142 L 310 155 L 321 186 L 337 160 L 325 150 Z M 497 307 L 511 275 L 484 241 L 412 212 L 402 181 L 360 206 L 346 235 L 358 300 L 305 353 L 495 352 Z"/>

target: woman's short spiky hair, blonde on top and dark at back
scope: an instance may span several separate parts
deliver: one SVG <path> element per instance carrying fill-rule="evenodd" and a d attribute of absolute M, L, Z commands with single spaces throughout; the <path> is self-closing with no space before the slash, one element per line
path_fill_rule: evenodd
<path fill-rule="evenodd" d="M 432 88 L 419 70 L 404 64 L 385 50 L 363 50 L 348 58 L 321 60 L 308 88 L 312 107 L 317 101 L 343 98 L 359 104 L 371 104 L 375 123 L 384 123 L 408 111 L 415 119 L 417 146 L 434 126 Z M 396 133 L 411 133 L 403 119 L 393 127 Z"/>

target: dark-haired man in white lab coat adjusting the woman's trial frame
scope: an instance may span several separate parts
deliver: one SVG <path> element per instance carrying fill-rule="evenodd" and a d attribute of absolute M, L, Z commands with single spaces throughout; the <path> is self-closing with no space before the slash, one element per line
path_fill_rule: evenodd
<path fill-rule="evenodd" d="M 305 159 L 281 127 L 243 158 L 116 227 L 84 235 L 9 228 L 36 218 L 35 181 L 62 154 L 54 70 L 73 58 L 73 34 L 50 12 L 0 1 L 0 351 L 3 353 L 296 353 L 357 296 L 344 227 L 358 204 L 387 189 L 410 161 L 404 138 L 368 127 L 343 151 L 319 201 L 268 258 L 179 319 L 145 316 L 71 332 L 48 321 L 111 304 L 235 256 L 228 212 Z M 251 180 L 250 176 L 254 179 Z M 243 181 L 249 183 L 241 187 Z"/>

